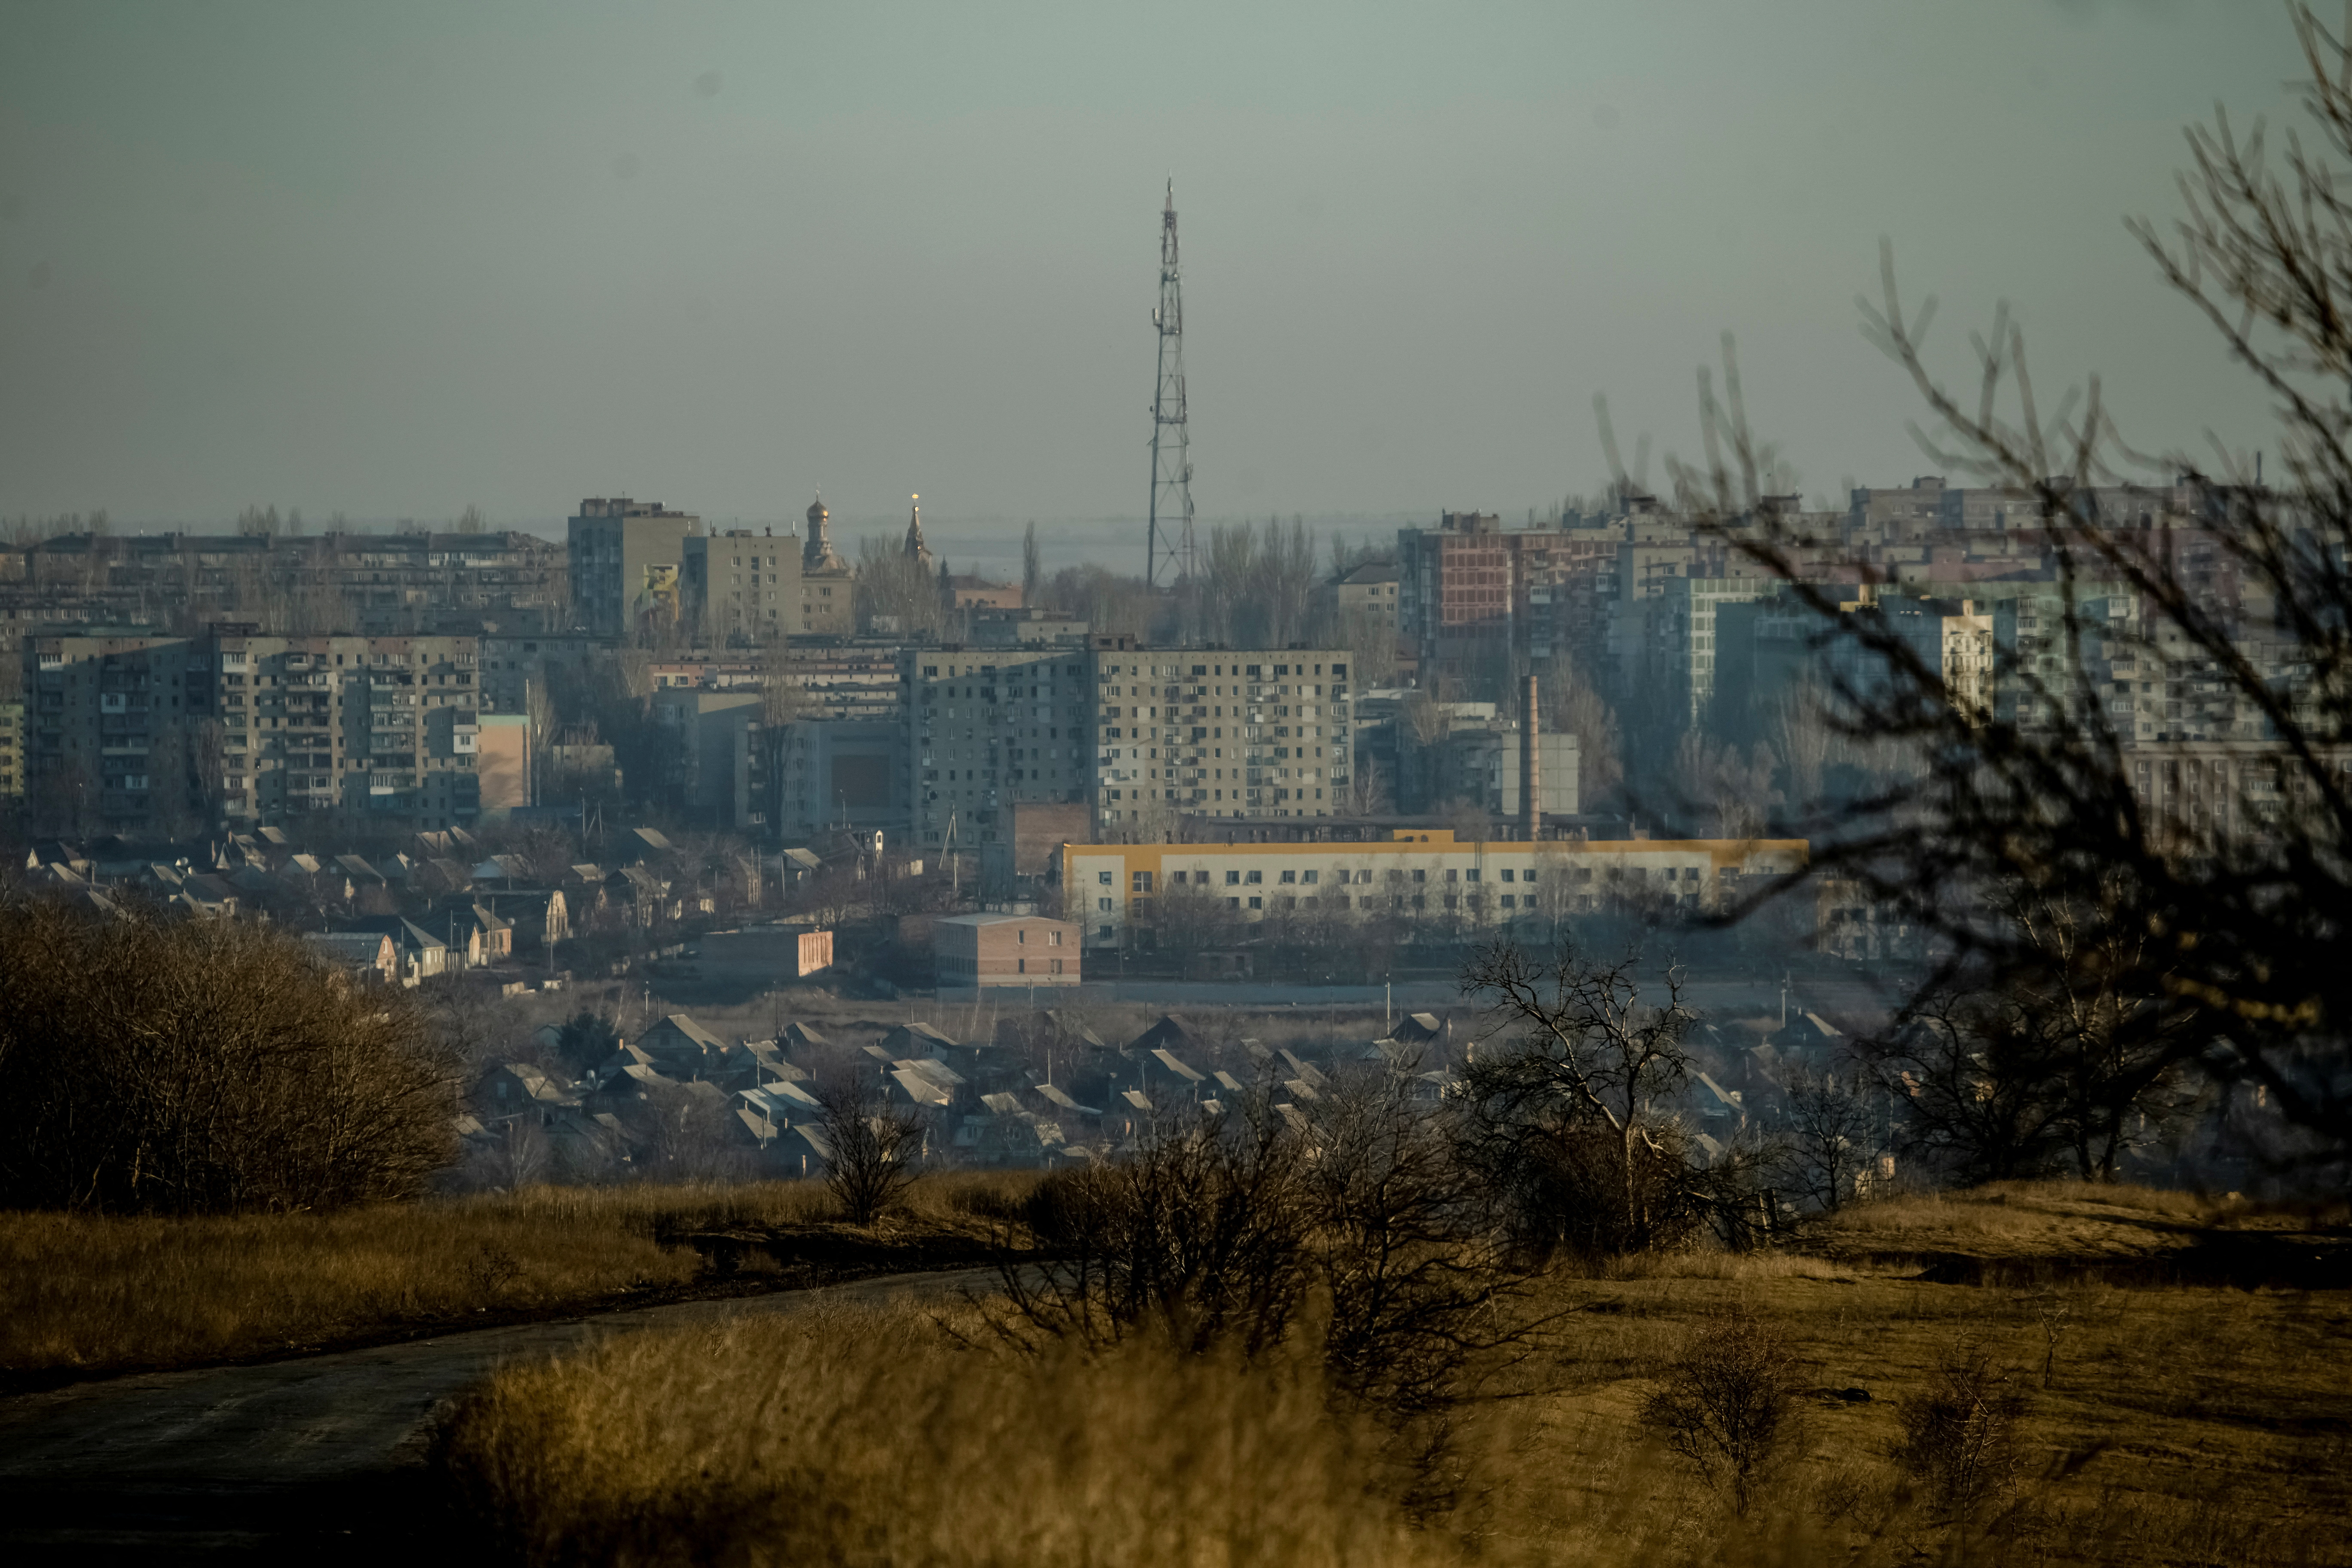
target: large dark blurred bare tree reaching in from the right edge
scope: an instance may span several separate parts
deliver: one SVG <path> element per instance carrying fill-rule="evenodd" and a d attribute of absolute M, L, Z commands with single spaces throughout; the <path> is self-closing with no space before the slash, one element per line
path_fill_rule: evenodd
<path fill-rule="evenodd" d="M 1947 473 L 2004 494 L 2009 527 L 2030 529 L 2051 559 L 2053 625 L 2004 656 L 1994 712 L 1964 701 L 1940 658 L 1842 607 L 1820 571 L 1837 541 L 1759 508 L 1769 449 L 1748 430 L 1729 355 L 1726 404 L 1708 395 L 1700 407 L 1708 463 L 1679 482 L 1731 548 L 1820 618 L 1846 668 L 1870 670 L 1837 691 L 1839 733 L 1910 757 L 1816 839 L 1813 872 L 1858 879 L 1978 976 L 2046 964 L 2039 938 L 1997 907 L 2002 886 L 2147 933 L 2112 978 L 2117 994 L 2176 1009 L 2176 1063 L 2260 1088 L 2300 1128 L 2281 1157 L 2340 1164 L 2352 1157 L 2352 971 L 2336 957 L 2352 914 L 2352 414 L 2340 395 L 2352 374 L 2352 49 L 2307 7 L 2291 16 L 2310 139 L 2274 155 L 2260 127 L 2218 113 L 2190 132 L 2183 214 L 2169 228 L 2131 223 L 2272 400 L 2274 470 L 2230 451 L 2133 451 L 2096 376 L 2063 397 L 2037 388 L 2006 308 L 1971 336 L 1973 374 L 1947 383 L 1929 353 L 1933 299 L 1905 303 L 1891 252 L 1865 301 L 1865 329 L 1926 404 L 1919 442 Z M 1860 567 L 1865 581 L 1882 576 Z M 2143 701 L 2159 703 L 2154 724 Z M 2169 797 L 2161 752 L 2143 748 L 2173 729 L 2176 705 L 2197 705 L 2230 741 L 2230 766 L 2206 773 L 2204 802 L 2220 811 Z M 1955 983 L 1976 985 L 1938 980 Z M 1919 1023 L 1933 1032 L 1957 1018 L 1931 1004 Z"/>

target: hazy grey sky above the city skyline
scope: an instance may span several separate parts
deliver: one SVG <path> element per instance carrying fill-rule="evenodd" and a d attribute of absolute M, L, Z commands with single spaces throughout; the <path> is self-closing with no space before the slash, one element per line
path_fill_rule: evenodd
<path fill-rule="evenodd" d="M 2006 296 L 2258 444 L 2122 216 L 2296 66 L 2258 0 L 0 5 L 0 512 L 1141 515 L 1167 174 L 1202 517 L 1592 489 L 1722 329 L 1809 494 L 1903 482 L 1879 235 L 1947 348 Z"/>

